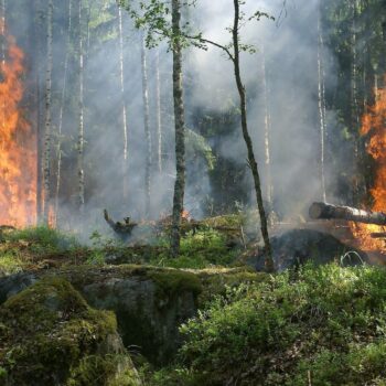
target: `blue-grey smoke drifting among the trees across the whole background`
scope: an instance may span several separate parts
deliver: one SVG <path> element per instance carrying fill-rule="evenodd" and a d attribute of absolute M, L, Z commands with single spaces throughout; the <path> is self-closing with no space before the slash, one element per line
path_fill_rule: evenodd
<path fill-rule="evenodd" d="M 14 17 L 20 3 L 9 8 L 10 22 L 18 25 Z M 30 1 L 26 1 L 30 8 Z M 18 3 L 18 4 L 17 4 Z M 53 74 L 53 130 L 58 127 L 61 88 L 63 85 L 68 23 L 67 1 L 55 1 L 54 9 L 54 74 Z M 30 19 L 21 19 L 22 28 L 14 28 L 18 39 L 30 55 L 30 84 L 37 81 L 40 87 L 40 115 L 44 117 L 44 69 L 45 69 L 45 2 L 37 2 L 31 9 Z M 77 170 L 77 34 L 78 21 L 73 9 L 73 31 L 69 44 L 69 71 L 64 100 L 62 137 L 63 171 L 61 186 L 60 225 L 83 229 L 104 229 L 101 211 L 108 208 L 112 218 L 131 216 L 140 219 L 144 215 L 144 164 L 147 143 L 143 129 L 143 106 L 140 62 L 140 33 L 133 28 L 127 12 L 124 17 L 124 64 L 125 96 L 120 93 L 120 47 L 118 39 L 118 9 L 114 0 L 96 0 L 90 9 L 84 9 L 85 41 L 85 178 L 86 210 L 82 215 L 76 211 Z M 246 13 L 256 10 L 277 18 L 271 21 L 248 22 L 242 30 L 245 43 L 254 44 L 258 52 L 242 54 L 242 73 L 248 94 L 248 124 L 262 174 L 266 192 L 267 168 L 265 165 L 265 118 L 268 110 L 271 119 L 270 156 L 274 186 L 274 207 L 281 215 L 302 213 L 314 199 L 321 197 L 320 183 L 320 137 L 318 116 L 318 31 L 317 0 L 293 0 L 287 2 L 283 12 L 282 0 L 247 1 Z M 190 10 L 194 29 L 204 36 L 221 44 L 230 40 L 226 28 L 233 23 L 233 1 L 199 1 Z M 87 23 L 87 20 L 90 21 Z M 37 23 L 37 24 L 36 24 Z M 36 26 L 37 25 L 37 26 Z M 31 46 L 35 34 L 34 46 Z M 28 36 L 29 35 L 29 36 Z M 171 52 L 165 45 L 157 49 L 160 55 L 160 87 L 162 117 L 162 171 L 158 171 L 156 148 L 156 51 L 147 51 L 149 97 L 152 132 L 152 196 L 151 217 L 171 213 L 174 185 L 174 132 L 172 99 Z M 324 62 L 333 63 L 331 54 L 323 52 Z M 237 108 L 237 89 L 233 65 L 226 55 L 215 47 L 207 51 L 187 49 L 184 54 L 184 83 L 186 126 L 197 130 L 197 114 L 201 111 L 226 111 Z M 262 82 L 262 61 L 266 63 L 267 96 Z M 36 81 L 35 72 L 40 77 Z M 334 85 L 334 68 L 325 66 L 326 85 Z M 32 86 L 33 87 L 33 86 Z M 33 99 L 33 98 L 32 98 Z M 122 103 L 128 114 L 128 160 L 124 163 Z M 32 117 L 37 115 L 34 99 Z M 199 111 L 199 112 L 197 112 Z M 203 112 L 204 111 L 204 112 Z M 330 115 L 334 117 L 333 114 Z M 330 120 L 330 125 L 333 122 Z M 216 143 L 219 156 L 236 162 L 244 170 L 249 200 L 254 205 L 255 194 L 246 164 L 245 144 L 239 124 L 235 130 L 208 139 Z M 43 127 L 40 127 L 42 130 Z M 54 137 L 55 138 L 55 137 Z M 56 154 L 53 156 L 52 180 L 55 183 Z M 124 193 L 122 169 L 128 169 L 127 194 Z M 213 172 L 216 173 L 216 170 Z M 213 175 L 212 173 L 212 175 Z M 239 186 L 239 191 L 244 187 Z M 226 186 L 225 186 L 226 190 Z M 203 157 L 187 160 L 187 186 L 185 206 L 200 217 L 207 213 L 205 207 L 211 199 L 212 176 Z M 226 194 L 226 191 L 224 192 Z M 239 192 L 243 195 L 243 192 Z"/>

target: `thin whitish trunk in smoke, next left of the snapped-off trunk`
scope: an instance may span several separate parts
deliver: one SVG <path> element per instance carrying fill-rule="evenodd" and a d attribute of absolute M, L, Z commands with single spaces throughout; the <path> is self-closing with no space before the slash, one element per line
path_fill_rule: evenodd
<path fill-rule="evenodd" d="M 122 178 L 124 178 L 124 200 L 128 194 L 128 124 L 127 124 L 127 107 L 125 93 L 125 58 L 124 58 L 124 26 L 122 26 L 122 9 L 118 7 L 118 23 L 119 23 L 119 69 L 120 69 L 120 98 L 122 109 Z"/>

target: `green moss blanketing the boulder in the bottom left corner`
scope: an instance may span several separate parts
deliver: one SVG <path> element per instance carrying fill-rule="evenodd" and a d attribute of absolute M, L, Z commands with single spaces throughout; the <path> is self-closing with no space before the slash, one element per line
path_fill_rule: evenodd
<path fill-rule="evenodd" d="M 0 366 L 12 385 L 64 384 L 117 328 L 111 312 L 89 308 L 61 278 L 45 278 L 10 298 L 0 325 Z"/>

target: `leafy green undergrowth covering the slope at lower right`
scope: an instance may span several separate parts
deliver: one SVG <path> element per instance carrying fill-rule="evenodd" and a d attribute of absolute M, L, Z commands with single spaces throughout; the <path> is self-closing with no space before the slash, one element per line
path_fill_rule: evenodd
<path fill-rule="evenodd" d="M 232 288 L 181 326 L 151 385 L 386 385 L 386 269 L 305 267 Z"/>

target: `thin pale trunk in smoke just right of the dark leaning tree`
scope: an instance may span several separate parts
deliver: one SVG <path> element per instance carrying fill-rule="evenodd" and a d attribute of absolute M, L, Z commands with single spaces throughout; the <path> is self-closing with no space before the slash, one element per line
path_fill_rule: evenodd
<path fill-rule="evenodd" d="M 267 68 L 266 68 L 266 55 L 264 46 L 261 47 L 261 72 L 262 72 L 262 88 L 264 88 L 264 107 L 265 107 L 265 156 L 266 156 L 266 173 L 267 173 L 267 201 L 272 208 L 272 174 L 271 174 L 271 157 L 270 157 L 270 111 L 269 111 L 269 95 L 268 95 L 268 81 L 267 81 Z"/>

